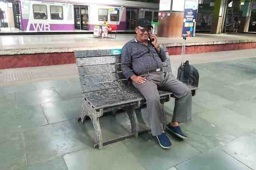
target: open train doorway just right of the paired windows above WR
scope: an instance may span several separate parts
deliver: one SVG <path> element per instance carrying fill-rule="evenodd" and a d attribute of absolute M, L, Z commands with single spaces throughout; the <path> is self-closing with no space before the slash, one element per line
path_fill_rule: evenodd
<path fill-rule="evenodd" d="M 75 29 L 89 30 L 88 6 L 74 5 Z"/>

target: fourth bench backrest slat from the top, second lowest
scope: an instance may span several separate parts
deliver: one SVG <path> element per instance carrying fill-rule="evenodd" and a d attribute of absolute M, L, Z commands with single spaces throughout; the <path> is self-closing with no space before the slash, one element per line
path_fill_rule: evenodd
<path fill-rule="evenodd" d="M 80 78 L 80 81 L 82 82 L 82 84 L 95 84 L 95 83 L 109 82 L 109 81 L 125 79 L 122 72 L 94 74 L 94 75 L 88 75 L 88 76 L 79 76 L 79 78 Z"/>

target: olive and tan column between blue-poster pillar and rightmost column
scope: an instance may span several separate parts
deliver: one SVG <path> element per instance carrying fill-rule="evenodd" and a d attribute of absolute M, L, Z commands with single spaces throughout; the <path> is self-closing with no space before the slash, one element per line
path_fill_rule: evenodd
<path fill-rule="evenodd" d="M 215 0 L 211 33 L 222 33 L 228 6 L 228 0 Z"/>

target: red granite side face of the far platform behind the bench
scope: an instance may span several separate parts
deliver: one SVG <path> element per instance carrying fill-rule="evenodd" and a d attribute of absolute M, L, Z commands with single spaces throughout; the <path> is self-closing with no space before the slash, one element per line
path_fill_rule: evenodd
<path fill-rule="evenodd" d="M 186 46 L 186 54 L 256 49 L 256 43 Z M 180 55 L 182 47 L 167 47 L 169 55 Z M 0 69 L 76 63 L 74 53 L 45 53 L 0 56 Z"/>

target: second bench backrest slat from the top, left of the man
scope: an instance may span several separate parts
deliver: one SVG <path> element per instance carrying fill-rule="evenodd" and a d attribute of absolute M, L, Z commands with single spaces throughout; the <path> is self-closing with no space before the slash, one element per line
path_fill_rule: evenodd
<path fill-rule="evenodd" d="M 101 64 L 116 64 L 121 63 L 121 56 L 101 56 L 101 57 L 84 57 L 77 58 L 78 66 L 91 66 L 91 65 L 101 65 Z"/>

